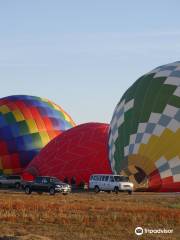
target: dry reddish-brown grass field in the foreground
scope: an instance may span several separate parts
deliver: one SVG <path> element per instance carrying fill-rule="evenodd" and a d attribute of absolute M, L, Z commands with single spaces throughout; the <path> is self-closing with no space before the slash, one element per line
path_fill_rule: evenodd
<path fill-rule="evenodd" d="M 137 226 L 173 229 L 136 236 Z M 30 196 L 0 191 L 0 239 L 180 239 L 180 194 L 72 193 Z"/>

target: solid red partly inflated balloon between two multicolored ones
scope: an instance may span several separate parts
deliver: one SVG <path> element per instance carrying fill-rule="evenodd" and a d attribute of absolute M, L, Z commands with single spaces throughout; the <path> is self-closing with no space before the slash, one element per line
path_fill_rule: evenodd
<path fill-rule="evenodd" d="M 24 171 L 31 174 L 55 176 L 89 182 L 94 173 L 112 173 L 108 161 L 108 124 L 86 123 L 53 139 L 30 162 Z"/>

